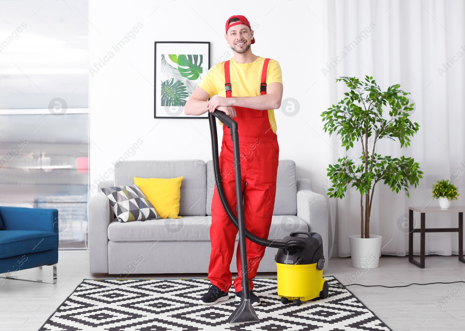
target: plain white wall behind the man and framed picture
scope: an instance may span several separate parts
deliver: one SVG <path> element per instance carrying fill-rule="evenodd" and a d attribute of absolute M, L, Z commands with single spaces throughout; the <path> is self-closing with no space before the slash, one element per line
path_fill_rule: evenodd
<path fill-rule="evenodd" d="M 138 22 L 143 27 L 103 68 L 90 77 L 90 181 L 128 160 L 212 159 L 208 119 L 153 118 L 154 41 L 210 41 L 212 64 L 232 50 L 224 40 L 226 19 L 247 17 L 257 41 L 252 52 L 279 61 L 284 94 L 299 102 L 295 116 L 275 110 L 280 159 L 293 159 L 298 177 L 323 193 L 334 152 L 326 144 L 319 114 L 331 105 L 321 67 L 326 27 L 320 3 L 306 1 L 89 1 L 90 67 L 112 50 Z M 308 18 L 311 17 L 312 20 Z M 227 59 L 226 59 L 227 60 Z M 329 75 L 328 75 L 329 79 Z M 321 87 L 321 88 L 320 88 Z M 219 131 L 220 133 L 220 131 Z M 135 154 L 127 150 L 142 139 Z M 221 135 L 219 135 L 219 140 Z M 332 138 L 331 138 L 332 139 Z M 110 176 L 112 179 L 113 176 Z M 92 190 L 93 194 L 97 191 Z"/>

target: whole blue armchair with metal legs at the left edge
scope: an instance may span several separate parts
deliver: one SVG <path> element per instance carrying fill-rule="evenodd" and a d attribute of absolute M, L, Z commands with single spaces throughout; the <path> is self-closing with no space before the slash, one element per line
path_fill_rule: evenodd
<path fill-rule="evenodd" d="M 57 263 L 58 210 L 0 206 L 0 277 L 21 279 L 13 274 L 53 265 L 56 283 Z"/>

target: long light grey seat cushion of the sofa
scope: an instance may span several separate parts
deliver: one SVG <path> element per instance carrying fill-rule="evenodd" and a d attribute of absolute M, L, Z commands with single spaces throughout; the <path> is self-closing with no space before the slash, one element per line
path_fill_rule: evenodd
<path fill-rule="evenodd" d="M 183 218 L 147 219 L 108 225 L 111 241 L 205 241 L 210 240 L 211 216 L 184 216 Z M 281 239 L 290 232 L 308 231 L 307 224 L 296 215 L 274 215 L 269 239 Z M 238 240 L 239 236 L 236 238 Z"/>

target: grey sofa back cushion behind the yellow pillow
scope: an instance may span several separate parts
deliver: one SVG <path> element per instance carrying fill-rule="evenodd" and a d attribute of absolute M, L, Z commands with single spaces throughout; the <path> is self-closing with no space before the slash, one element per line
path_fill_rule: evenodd
<path fill-rule="evenodd" d="M 134 177 L 183 177 L 179 216 L 206 215 L 206 171 L 203 160 L 124 161 L 115 166 L 115 186 L 133 185 Z"/>

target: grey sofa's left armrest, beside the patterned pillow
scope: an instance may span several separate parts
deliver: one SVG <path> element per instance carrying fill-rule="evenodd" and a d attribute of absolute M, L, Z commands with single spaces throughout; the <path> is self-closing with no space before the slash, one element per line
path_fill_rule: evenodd
<path fill-rule="evenodd" d="M 89 265 L 90 272 L 108 272 L 108 225 L 114 219 L 110 201 L 100 190 L 89 199 Z"/>

